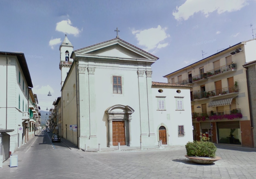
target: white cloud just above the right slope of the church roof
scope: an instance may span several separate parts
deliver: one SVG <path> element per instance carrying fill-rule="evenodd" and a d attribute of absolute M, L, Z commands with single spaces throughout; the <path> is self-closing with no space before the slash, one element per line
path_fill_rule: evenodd
<path fill-rule="evenodd" d="M 132 34 L 136 36 L 138 44 L 145 47 L 145 51 L 160 49 L 166 47 L 169 43 L 163 43 L 164 39 L 170 37 L 165 31 L 167 28 L 162 28 L 158 25 L 157 28 L 145 30 L 132 30 Z M 162 44 L 160 44 L 162 42 Z"/>

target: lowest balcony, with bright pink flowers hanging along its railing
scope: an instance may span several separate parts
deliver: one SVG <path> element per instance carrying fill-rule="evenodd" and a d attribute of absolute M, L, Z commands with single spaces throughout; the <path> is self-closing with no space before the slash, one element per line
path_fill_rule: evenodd
<path fill-rule="evenodd" d="M 196 119 L 197 117 L 205 117 L 208 118 L 214 118 L 215 116 L 223 116 L 223 115 L 232 115 L 232 114 L 241 114 L 241 109 L 232 109 L 232 110 L 223 110 L 223 111 L 211 111 L 211 112 L 192 112 L 192 119 Z M 225 117 L 228 117 L 228 116 Z M 235 116 L 236 117 L 236 116 Z M 239 117 L 239 116 L 237 116 Z M 217 117 L 215 117 L 217 118 Z"/>

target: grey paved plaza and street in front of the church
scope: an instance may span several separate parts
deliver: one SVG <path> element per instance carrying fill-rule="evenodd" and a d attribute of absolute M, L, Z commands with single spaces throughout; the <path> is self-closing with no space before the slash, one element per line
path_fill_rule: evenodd
<path fill-rule="evenodd" d="M 51 143 L 51 133 L 42 132 L 15 154 L 18 167 L 9 159 L 0 168 L 0 178 L 86 178 L 86 179 L 164 179 L 164 178 L 256 178 L 256 149 L 217 145 L 215 164 L 190 162 L 184 146 L 162 150 L 84 152 L 69 143 Z M 71 150 L 71 149 L 72 150 Z"/>

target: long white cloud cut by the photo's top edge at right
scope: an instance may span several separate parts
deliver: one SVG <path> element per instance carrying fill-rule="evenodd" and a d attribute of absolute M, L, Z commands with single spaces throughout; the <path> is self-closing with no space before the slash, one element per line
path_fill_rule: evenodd
<path fill-rule="evenodd" d="M 209 14 L 214 11 L 217 11 L 218 14 L 239 11 L 249 4 L 248 1 L 249 0 L 187 0 L 181 6 L 176 7 L 173 16 L 178 21 L 186 21 L 197 12 L 201 12 L 208 17 Z"/>

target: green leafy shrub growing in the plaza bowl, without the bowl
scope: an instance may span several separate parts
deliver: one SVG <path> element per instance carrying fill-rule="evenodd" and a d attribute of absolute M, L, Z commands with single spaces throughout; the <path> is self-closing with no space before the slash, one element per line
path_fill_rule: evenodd
<path fill-rule="evenodd" d="M 216 146 L 209 142 L 209 138 L 205 137 L 205 135 L 201 138 L 201 141 L 188 142 L 185 147 L 188 156 L 210 158 L 215 158 L 216 156 Z"/>

